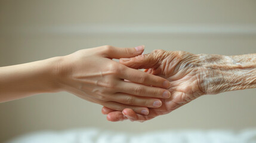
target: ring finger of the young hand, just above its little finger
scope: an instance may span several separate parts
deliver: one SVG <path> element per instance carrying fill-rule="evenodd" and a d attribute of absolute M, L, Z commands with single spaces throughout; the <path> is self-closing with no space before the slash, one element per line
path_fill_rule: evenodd
<path fill-rule="evenodd" d="M 158 98 L 147 98 L 147 97 L 138 97 L 134 95 L 116 93 L 114 96 L 110 97 L 110 101 L 119 102 L 125 105 L 134 105 L 142 106 L 149 108 L 158 108 L 161 107 L 162 101 Z"/>

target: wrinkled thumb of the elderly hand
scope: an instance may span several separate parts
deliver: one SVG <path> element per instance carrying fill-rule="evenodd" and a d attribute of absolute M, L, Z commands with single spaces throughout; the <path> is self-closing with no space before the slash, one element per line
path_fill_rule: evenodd
<path fill-rule="evenodd" d="M 132 69 L 154 69 L 159 66 L 159 58 L 154 53 L 121 58 L 119 62 Z"/>

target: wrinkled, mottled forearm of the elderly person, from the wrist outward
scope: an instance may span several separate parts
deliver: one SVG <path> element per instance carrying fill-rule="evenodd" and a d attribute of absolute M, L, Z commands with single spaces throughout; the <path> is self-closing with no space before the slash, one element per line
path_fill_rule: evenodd
<path fill-rule="evenodd" d="M 202 89 L 206 94 L 256 88 L 256 54 L 199 55 L 204 72 Z"/>

